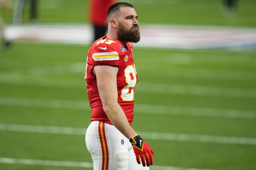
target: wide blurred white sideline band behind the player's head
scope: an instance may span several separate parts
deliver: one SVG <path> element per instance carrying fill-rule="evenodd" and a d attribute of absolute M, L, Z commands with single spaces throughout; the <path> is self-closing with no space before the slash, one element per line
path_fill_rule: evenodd
<path fill-rule="evenodd" d="M 175 49 L 255 50 L 256 29 L 218 26 L 140 25 L 141 41 L 135 46 Z M 89 24 L 9 25 L 9 40 L 90 45 Z"/>

